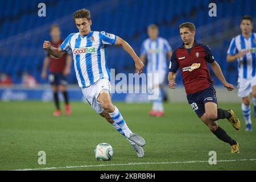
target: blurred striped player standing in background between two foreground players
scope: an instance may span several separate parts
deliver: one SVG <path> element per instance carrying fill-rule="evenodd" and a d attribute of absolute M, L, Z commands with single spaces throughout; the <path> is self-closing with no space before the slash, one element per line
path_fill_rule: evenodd
<path fill-rule="evenodd" d="M 167 73 L 167 60 L 171 59 L 172 48 L 166 39 L 158 37 L 158 26 L 150 24 L 147 28 L 148 39 L 144 40 L 141 48 L 141 60 L 143 63 L 148 60 L 147 73 L 151 73 L 152 77 L 147 80 L 148 89 L 159 89 L 159 96 L 153 101 L 152 110 L 150 115 L 162 117 L 164 115 L 163 108 L 163 85 Z M 154 74 L 158 76 L 154 77 Z M 155 93 L 152 92 L 151 93 Z"/>

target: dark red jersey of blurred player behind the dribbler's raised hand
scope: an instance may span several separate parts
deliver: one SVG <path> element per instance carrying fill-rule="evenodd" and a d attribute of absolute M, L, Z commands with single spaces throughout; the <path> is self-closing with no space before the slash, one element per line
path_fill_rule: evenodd
<path fill-rule="evenodd" d="M 62 40 L 59 41 L 59 43 L 53 43 L 51 42 L 52 47 L 60 47 L 61 43 L 63 43 Z M 66 65 L 66 59 L 67 59 L 67 53 L 64 53 L 64 55 L 60 59 L 56 59 L 52 55 L 49 55 L 50 57 L 50 63 L 49 63 L 49 69 L 51 73 L 63 73 Z"/>

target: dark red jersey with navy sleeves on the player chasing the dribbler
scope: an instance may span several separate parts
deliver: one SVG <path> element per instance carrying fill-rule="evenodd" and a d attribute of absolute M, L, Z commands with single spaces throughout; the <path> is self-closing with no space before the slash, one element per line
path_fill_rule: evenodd
<path fill-rule="evenodd" d="M 188 95 L 213 85 L 207 62 L 214 62 L 212 52 L 208 46 L 195 42 L 195 46 L 190 49 L 181 46 L 174 50 L 169 69 L 170 72 L 176 73 L 180 67 L 183 84 Z"/>

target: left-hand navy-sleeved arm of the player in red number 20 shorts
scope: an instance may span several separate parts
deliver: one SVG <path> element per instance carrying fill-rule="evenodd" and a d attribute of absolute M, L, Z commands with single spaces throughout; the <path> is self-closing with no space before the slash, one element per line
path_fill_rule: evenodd
<path fill-rule="evenodd" d="M 177 62 L 176 49 L 175 49 L 171 56 L 169 73 L 168 73 L 168 82 L 169 82 L 168 86 L 171 89 L 175 89 L 175 86 L 177 85 L 175 82 L 175 79 L 176 79 L 176 73 L 178 68 L 179 68 L 179 63 Z"/>

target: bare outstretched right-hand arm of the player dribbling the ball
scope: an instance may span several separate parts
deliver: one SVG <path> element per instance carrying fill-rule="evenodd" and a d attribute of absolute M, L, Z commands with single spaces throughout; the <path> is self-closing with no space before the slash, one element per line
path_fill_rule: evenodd
<path fill-rule="evenodd" d="M 135 68 L 137 69 L 138 73 L 142 73 L 142 70 L 144 68 L 144 64 L 139 59 L 137 54 L 134 52 L 133 48 L 122 38 L 119 38 L 117 36 L 117 39 L 115 40 L 115 46 L 121 46 L 129 55 L 133 58 L 135 63 Z"/>

